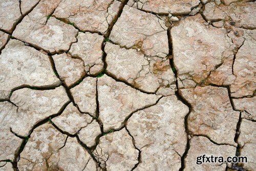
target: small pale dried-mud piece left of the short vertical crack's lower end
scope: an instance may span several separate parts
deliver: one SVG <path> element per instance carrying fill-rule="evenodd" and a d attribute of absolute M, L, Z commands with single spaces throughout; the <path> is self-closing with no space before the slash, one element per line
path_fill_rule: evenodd
<path fill-rule="evenodd" d="M 86 144 L 89 148 L 96 145 L 96 138 L 101 134 L 100 126 L 96 120 L 93 120 L 86 127 L 83 127 L 78 132 L 78 137 L 82 143 Z"/>

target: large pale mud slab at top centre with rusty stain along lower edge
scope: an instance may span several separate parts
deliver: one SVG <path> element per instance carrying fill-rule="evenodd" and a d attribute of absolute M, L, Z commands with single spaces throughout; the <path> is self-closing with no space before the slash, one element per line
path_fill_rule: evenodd
<path fill-rule="evenodd" d="M 147 56 L 168 54 L 167 28 L 156 15 L 124 6 L 110 40 L 126 48 L 140 49 Z"/>

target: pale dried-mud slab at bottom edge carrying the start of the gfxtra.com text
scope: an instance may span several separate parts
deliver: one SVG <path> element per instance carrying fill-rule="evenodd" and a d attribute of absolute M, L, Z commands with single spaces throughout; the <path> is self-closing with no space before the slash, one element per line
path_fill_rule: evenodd
<path fill-rule="evenodd" d="M 190 170 L 225 170 L 226 163 L 220 163 L 218 160 L 212 163 L 205 162 L 206 158 L 204 158 L 203 163 L 203 155 L 207 157 L 223 157 L 224 161 L 228 156 L 232 156 L 236 153 L 236 147 L 231 145 L 217 145 L 206 137 L 193 137 L 190 140 L 190 147 L 185 158 L 185 171 Z M 209 158 L 211 161 L 211 158 Z M 215 158 L 213 158 L 215 160 Z M 202 163 L 200 163 L 202 162 Z"/>

